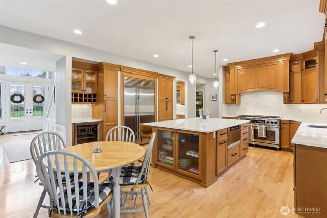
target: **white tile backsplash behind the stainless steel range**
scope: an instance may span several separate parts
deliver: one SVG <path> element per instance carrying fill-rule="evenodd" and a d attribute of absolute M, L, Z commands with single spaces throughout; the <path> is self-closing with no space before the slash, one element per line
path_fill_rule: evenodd
<path fill-rule="evenodd" d="M 283 104 L 283 93 L 252 91 L 241 94 L 241 105 L 223 105 L 223 116 L 276 115 L 308 122 L 327 122 L 327 104 Z"/>

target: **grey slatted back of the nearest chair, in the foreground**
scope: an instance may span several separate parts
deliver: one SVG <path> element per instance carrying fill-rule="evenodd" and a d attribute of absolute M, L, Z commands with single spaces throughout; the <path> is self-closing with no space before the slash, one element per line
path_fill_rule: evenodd
<path fill-rule="evenodd" d="M 44 160 L 46 161 L 44 162 Z M 53 167 L 52 163 L 55 164 L 55 167 Z M 78 170 L 79 167 L 82 167 L 82 169 L 80 169 L 82 172 Z M 54 206 L 58 209 L 58 213 L 62 214 L 63 212 L 64 215 L 66 215 L 66 213 L 73 215 L 74 196 L 77 201 L 77 208 L 80 208 L 81 206 L 79 202 L 82 198 L 79 197 L 79 173 L 82 173 L 83 201 L 87 204 L 87 174 L 89 172 L 92 177 L 91 179 L 94 181 L 94 190 L 89 191 L 92 192 L 92 197 L 95 199 L 95 208 L 99 207 L 99 182 L 97 173 L 94 167 L 82 157 L 62 150 L 46 152 L 38 158 L 36 162 L 36 172 L 46 192 L 49 193 L 50 198 L 54 201 Z M 64 172 L 64 174 L 61 175 L 61 172 Z M 70 181 L 69 172 L 74 172 L 74 184 L 69 182 L 64 183 L 61 179 L 61 177 L 64 177 L 65 181 Z M 59 193 L 57 192 L 56 184 L 58 184 Z M 66 185 L 67 200 L 64 195 L 64 185 Z M 73 191 L 75 191 L 75 195 Z M 60 209 L 60 204 L 62 205 L 62 209 Z M 85 206 L 87 208 L 89 205 Z"/>

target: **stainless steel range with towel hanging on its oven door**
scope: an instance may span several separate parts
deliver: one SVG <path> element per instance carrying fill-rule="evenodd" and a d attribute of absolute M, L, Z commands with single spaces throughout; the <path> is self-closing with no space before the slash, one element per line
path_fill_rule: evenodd
<path fill-rule="evenodd" d="M 260 146 L 281 148 L 279 143 L 280 116 L 240 115 L 238 119 L 250 121 L 249 143 Z"/>

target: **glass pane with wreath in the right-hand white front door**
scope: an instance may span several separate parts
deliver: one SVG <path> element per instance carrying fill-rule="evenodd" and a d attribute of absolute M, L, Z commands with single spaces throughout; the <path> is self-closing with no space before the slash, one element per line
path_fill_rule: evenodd
<path fill-rule="evenodd" d="M 45 103 L 44 95 L 44 86 L 33 86 L 33 117 L 43 117 Z"/>

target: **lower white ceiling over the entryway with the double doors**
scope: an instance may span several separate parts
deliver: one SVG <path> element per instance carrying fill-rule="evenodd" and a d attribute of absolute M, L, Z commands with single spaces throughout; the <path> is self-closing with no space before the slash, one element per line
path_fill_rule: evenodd
<path fill-rule="evenodd" d="M 0 66 L 56 71 L 56 61 L 62 57 L 62 55 L 0 43 Z M 23 65 L 19 62 L 29 64 Z"/>

